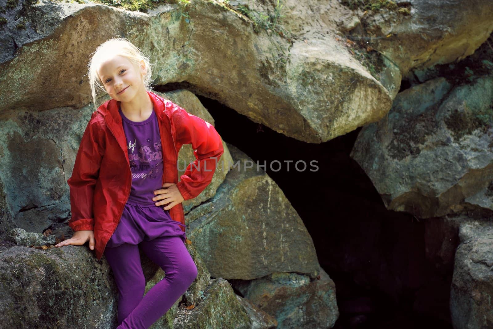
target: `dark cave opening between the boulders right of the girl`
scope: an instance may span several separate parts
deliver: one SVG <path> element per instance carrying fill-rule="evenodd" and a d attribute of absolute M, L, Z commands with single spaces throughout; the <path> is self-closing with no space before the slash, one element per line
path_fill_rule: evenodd
<path fill-rule="evenodd" d="M 171 86 L 162 87 L 160 91 Z M 340 315 L 333 328 L 452 328 L 453 268 L 436 269 L 425 256 L 426 220 L 388 211 L 350 157 L 361 128 L 310 144 L 255 123 L 215 100 L 197 97 L 224 141 L 253 161 L 267 161 L 267 174 L 303 219 L 318 261 L 336 286 Z M 275 160 L 282 163 L 279 171 L 269 168 Z M 289 160 L 293 162 L 287 170 L 284 161 Z M 307 164 L 315 160 L 318 170 L 308 166 L 298 171 L 293 166 L 298 160 Z"/>

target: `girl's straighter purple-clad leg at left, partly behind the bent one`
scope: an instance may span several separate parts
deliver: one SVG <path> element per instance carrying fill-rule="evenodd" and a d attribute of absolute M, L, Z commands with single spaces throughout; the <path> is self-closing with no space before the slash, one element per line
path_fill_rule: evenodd
<path fill-rule="evenodd" d="M 118 287 L 118 324 L 121 324 L 139 305 L 145 291 L 139 247 L 127 243 L 115 248 L 106 247 L 105 256 Z"/>

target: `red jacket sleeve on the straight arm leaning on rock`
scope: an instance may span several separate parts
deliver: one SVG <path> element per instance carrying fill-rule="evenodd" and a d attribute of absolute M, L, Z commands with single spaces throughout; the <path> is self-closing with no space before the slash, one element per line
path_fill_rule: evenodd
<path fill-rule="evenodd" d="M 69 226 L 73 231 L 94 230 L 93 194 L 104 155 L 102 130 L 93 121 L 96 115 L 97 112 L 93 112 L 82 135 L 72 176 L 67 181 L 70 186 Z"/>

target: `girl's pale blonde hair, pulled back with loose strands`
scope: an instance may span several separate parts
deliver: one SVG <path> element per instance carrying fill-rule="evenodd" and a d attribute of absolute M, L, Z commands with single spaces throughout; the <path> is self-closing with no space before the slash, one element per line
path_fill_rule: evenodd
<path fill-rule="evenodd" d="M 98 109 L 98 106 L 96 105 L 96 89 L 106 91 L 100 80 L 100 76 L 98 75 L 98 70 L 101 68 L 103 62 L 115 55 L 127 58 L 130 63 L 137 67 L 140 66 L 140 62 L 143 60 L 145 65 L 145 74 L 143 77 L 144 86 L 146 89 L 149 89 L 152 84 L 152 65 L 149 62 L 149 58 L 145 56 L 139 48 L 124 37 L 113 37 L 106 40 L 96 48 L 94 53 L 92 53 L 89 64 L 87 65 L 87 75 L 89 77 L 92 100 L 96 110 Z"/>

